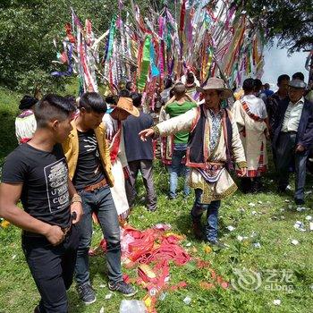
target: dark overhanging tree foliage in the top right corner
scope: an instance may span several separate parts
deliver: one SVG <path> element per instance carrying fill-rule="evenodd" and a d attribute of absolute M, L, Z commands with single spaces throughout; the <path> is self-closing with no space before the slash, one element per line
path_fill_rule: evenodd
<path fill-rule="evenodd" d="M 292 53 L 313 47 L 312 0 L 242 0 L 242 9 L 266 24 L 267 38 L 278 38 Z"/>

